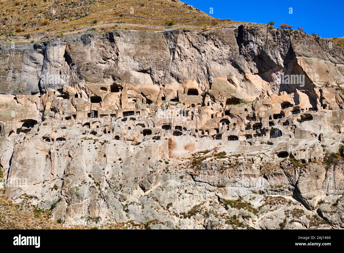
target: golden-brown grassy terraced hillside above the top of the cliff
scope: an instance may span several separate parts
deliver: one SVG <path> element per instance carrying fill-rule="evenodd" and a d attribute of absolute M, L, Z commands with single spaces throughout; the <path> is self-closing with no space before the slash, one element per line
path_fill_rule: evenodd
<path fill-rule="evenodd" d="M 98 28 L 99 32 L 121 29 L 161 30 L 171 25 L 211 26 L 232 23 L 214 19 L 178 0 L 111 1 L 17 1 L 0 2 L 0 38 L 3 42 L 52 38 Z M 111 24 L 111 25 L 109 25 Z"/>

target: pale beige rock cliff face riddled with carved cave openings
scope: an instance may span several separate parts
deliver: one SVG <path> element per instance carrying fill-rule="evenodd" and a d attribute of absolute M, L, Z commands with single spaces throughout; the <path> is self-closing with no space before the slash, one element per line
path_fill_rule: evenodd
<path fill-rule="evenodd" d="M 326 40 L 124 30 L 5 45 L 0 59 L 14 203 L 64 226 L 344 228 L 344 53 Z"/>

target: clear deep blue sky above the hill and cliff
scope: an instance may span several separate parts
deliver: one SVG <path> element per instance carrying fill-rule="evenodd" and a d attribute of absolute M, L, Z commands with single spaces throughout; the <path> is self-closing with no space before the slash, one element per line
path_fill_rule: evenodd
<path fill-rule="evenodd" d="M 305 32 L 317 33 L 322 38 L 344 36 L 344 1 L 343 0 L 289 0 L 289 1 L 254 1 L 254 0 L 183 0 L 203 12 L 213 8 L 214 18 L 232 19 L 252 23 L 275 21 L 275 27 L 281 23 L 302 27 Z M 292 14 L 289 14 L 292 8 Z"/>

